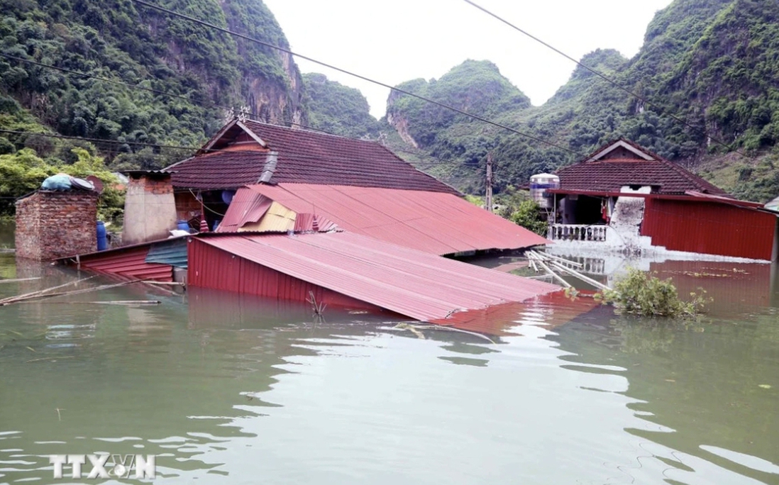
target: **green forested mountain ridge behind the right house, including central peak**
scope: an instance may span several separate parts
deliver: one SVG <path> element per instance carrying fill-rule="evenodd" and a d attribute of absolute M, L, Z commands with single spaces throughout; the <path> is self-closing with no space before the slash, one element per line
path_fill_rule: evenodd
<path fill-rule="evenodd" d="M 450 160 L 432 171 L 466 191 L 483 190 L 489 150 L 499 166 L 496 188 L 502 190 L 623 136 L 695 168 L 739 197 L 779 195 L 779 2 L 675 0 L 657 12 L 634 58 L 598 50 L 581 62 L 643 100 L 582 67 L 541 107 L 492 104 L 485 96 L 479 97 L 485 102 L 464 103 L 464 93 L 478 93 L 485 85 L 489 70 L 475 67 L 458 66 L 438 82 L 418 79 L 398 86 L 560 148 L 461 115 L 440 114 L 437 107 L 397 93 L 388 100 L 388 121 L 407 145 Z M 435 90 L 453 76 L 458 90 Z M 497 69 L 492 76 L 496 99 L 519 93 Z M 398 137 L 389 139 L 399 147 Z"/>

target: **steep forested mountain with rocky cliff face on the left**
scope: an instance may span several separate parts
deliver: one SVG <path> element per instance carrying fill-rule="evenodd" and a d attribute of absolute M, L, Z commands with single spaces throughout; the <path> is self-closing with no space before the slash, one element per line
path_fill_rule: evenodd
<path fill-rule="evenodd" d="M 261 0 L 156 3 L 288 45 Z M 160 167 L 182 152 L 134 143 L 198 146 L 235 109 L 306 121 L 298 68 L 270 47 L 130 0 L 0 0 L 0 16 L 0 129 L 118 141 L 97 143 L 109 163 Z M 7 135 L 0 153 L 33 148 L 61 160 L 72 144 Z"/>

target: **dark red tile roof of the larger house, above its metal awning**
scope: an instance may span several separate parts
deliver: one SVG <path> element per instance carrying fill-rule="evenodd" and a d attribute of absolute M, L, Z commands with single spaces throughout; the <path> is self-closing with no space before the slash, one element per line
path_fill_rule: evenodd
<path fill-rule="evenodd" d="M 268 149 L 278 153 L 276 166 L 269 173 L 271 184 L 339 184 L 459 193 L 377 142 L 256 121 L 243 124 L 263 139 Z M 262 151 L 214 152 L 193 156 L 167 170 L 174 172 L 175 187 L 238 188 L 259 183 L 268 158 L 269 154 Z"/>

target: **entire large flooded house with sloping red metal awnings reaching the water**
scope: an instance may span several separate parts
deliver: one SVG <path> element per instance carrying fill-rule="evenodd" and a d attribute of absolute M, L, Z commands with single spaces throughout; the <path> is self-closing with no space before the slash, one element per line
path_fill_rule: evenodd
<path fill-rule="evenodd" d="M 164 174 L 172 198 L 159 186 L 167 177 L 132 174 L 133 193 L 143 197 L 133 203 L 165 206 L 160 217 L 173 211 L 213 232 L 80 255 L 83 268 L 170 280 L 184 250 L 189 286 L 442 324 L 457 315 L 471 329 L 488 308 L 559 290 L 443 258 L 548 241 L 467 202 L 379 143 L 234 120 Z"/>

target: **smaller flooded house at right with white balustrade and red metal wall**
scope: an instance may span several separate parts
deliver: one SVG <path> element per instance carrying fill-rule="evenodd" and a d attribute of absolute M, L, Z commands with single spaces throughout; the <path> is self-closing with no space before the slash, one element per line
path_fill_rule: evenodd
<path fill-rule="evenodd" d="M 777 214 L 732 198 L 676 163 L 619 139 L 556 172 L 555 246 L 777 259 Z"/>

